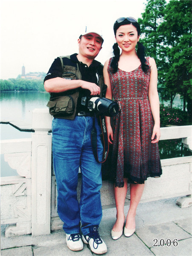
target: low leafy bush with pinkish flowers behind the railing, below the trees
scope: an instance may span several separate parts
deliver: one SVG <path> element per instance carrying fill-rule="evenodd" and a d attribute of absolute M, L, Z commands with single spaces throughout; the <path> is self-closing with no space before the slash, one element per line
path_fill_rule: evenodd
<path fill-rule="evenodd" d="M 189 120 L 187 113 L 180 108 L 171 108 L 169 106 L 160 105 L 160 125 L 188 125 Z"/>

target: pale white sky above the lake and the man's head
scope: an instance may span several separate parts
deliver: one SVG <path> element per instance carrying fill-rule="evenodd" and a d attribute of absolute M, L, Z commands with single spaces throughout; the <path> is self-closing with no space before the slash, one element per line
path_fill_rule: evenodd
<path fill-rule="evenodd" d="M 1 0 L 0 78 L 45 72 L 55 58 L 78 52 L 85 27 L 102 33 L 96 60 L 112 56 L 113 24 L 119 17 L 142 17 L 146 0 Z"/>

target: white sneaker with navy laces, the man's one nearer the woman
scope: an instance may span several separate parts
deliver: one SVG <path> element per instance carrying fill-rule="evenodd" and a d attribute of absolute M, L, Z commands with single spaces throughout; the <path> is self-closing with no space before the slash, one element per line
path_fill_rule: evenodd
<path fill-rule="evenodd" d="M 91 227 L 90 233 L 82 235 L 82 240 L 85 244 L 90 245 L 90 249 L 93 253 L 103 254 L 108 251 L 106 244 L 99 236 L 98 227 Z"/>

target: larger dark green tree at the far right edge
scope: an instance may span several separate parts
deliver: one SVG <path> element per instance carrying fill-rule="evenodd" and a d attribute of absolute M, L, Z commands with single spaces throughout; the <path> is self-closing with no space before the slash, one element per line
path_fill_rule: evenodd
<path fill-rule="evenodd" d="M 157 31 L 161 47 L 160 79 L 163 97 L 172 100 L 179 93 L 183 97 L 183 111 L 191 116 L 191 56 L 192 56 L 191 1 L 171 0 L 164 10 L 164 21 Z"/>

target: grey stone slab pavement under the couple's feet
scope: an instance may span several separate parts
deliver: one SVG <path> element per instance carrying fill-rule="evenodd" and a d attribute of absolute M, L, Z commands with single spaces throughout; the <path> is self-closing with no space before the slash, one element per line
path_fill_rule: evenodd
<path fill-rule="evenodd" d="M 137 208 L 136 232 L 130 238 L 124 235 L 116 241 L 111 238 L 116 209 L 103 210 L 99 234 L 108 246 L 106 256 L 191 256 L 192 207 L 180 208 L 177 198 L 141 202 Z M 125 206 L 125 213 L 128 205 Z M 84 244 L 79 252 L 66 246 L 65 233 L 57 230 L 47 236 L 1 235 L 2 256 L 96 256 Z"/>

